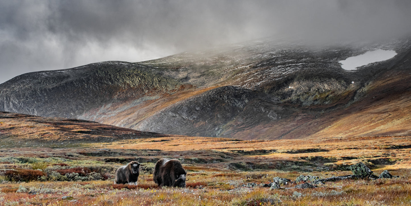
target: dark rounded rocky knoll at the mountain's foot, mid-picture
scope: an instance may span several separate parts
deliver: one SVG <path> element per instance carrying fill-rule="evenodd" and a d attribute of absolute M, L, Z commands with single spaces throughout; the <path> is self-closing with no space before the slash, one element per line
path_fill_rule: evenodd
<path fill-rule="evenodd" d="M 227 125 L 258 125 L 274 122 L 292 111 L 275 105 L 265 96 L 239 87 L 219 87 L 177 103 L 136 128 L 171 134 L 230 136 Z M 231 128 L 231 127 L 230 127 Z"/>

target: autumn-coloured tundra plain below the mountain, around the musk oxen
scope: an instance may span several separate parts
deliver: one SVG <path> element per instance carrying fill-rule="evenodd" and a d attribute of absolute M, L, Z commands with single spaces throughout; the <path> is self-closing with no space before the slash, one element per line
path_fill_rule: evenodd
<path fill-rule="evenodd" d="M 0 205 L 411 205 L 411 137 L 236 140 L 140 132 L 77 119 L 0 112 Z M 158 159 L 179 159 L 185 188 L 157 187 Z M 141 163 L 138 185 L 113 184 Z M 300 175 L 350 175 L 363 162 L 379 176 L 296 187 Z M 291 182 L 271 189 L 273 178 Z"/>

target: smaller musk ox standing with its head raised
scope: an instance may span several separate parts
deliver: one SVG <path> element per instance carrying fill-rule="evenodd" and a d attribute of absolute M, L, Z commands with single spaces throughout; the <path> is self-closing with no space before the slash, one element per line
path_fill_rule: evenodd
<path fill-rule="evenodd" d="M 140 175 L 140 163 L 133 161 L 127 165 L 120 166 L 115 171 L 115 184 L 137 185 L 137 179 Z"/>

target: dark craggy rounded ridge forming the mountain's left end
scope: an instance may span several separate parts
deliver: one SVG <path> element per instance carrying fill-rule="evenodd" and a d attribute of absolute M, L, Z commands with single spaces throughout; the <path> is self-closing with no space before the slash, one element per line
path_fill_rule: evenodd
<path fill-rule="evenodd" d="M 158 98 L 182 85 L 136 63 L 102 62 L 67 70 L 33 72 L 1 84 L 0 110 L 48 117 L 78 117 L 110 104 Z"/>

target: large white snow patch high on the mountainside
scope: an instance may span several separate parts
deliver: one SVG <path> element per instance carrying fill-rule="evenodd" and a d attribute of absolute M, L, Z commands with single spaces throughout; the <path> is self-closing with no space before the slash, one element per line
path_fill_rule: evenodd
<path fill-rule="evenodd" d="M 377 61 L 384 61 L 393 58 L 397 53 L 393 50 L 377 49 L 374 51 L 366 52 L 358 56 L 351 56 L 346 60 L 339 61 L 341 67 L 345 70 L 356 70 L 357 67 L 374 63 Z"/>

